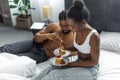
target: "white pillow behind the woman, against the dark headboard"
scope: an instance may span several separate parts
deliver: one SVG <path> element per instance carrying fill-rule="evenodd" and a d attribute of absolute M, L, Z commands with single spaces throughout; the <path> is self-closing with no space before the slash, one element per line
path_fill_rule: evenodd
<path fill-rule="evenodd" d="M 102 31 L 100 34 L 100 48 L 110 51 L 120 51 L 120 32 Z"/>

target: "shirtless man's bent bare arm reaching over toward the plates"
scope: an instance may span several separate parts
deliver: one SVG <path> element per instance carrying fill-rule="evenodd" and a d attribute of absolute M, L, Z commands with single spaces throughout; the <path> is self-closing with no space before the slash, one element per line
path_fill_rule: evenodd
<path fill-rule="evenodd" d="M 60 31 L 60 29 L 57 23 L 52 23 L 44 30 L 37 32 L 34 36 L 34 40 L 36 42 L 43 42 L 44 40 L 51 39 L 52 36 L 55 36 L 54 33 Z"/>

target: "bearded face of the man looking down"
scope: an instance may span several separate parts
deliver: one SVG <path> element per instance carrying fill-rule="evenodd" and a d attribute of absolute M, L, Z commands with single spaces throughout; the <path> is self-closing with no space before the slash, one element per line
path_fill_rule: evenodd
<path fill-rule="evenodd" d="M 71 31 L 71 28 L 68 26 L 66 20 L 61 20 L 60 26 L 64 34 L 68 34 Z"/>

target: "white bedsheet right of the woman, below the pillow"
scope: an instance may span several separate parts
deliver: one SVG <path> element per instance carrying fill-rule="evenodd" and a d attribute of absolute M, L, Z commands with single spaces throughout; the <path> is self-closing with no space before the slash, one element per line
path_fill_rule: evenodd
<path fill-rule="evenodd" d="M 101 50 L 98 80 L 120 80 L 120 54 Z"/>

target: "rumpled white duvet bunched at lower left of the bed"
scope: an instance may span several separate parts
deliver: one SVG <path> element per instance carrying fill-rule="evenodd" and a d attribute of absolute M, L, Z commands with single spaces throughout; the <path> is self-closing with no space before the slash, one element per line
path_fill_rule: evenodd
<path fill-rule="evenodd" d="M 25 56 L 18 57 L 9 53 L 1 53 L 0 73 L 20 77 L 32 77 L 36 74 L 36 61 Z"/>

